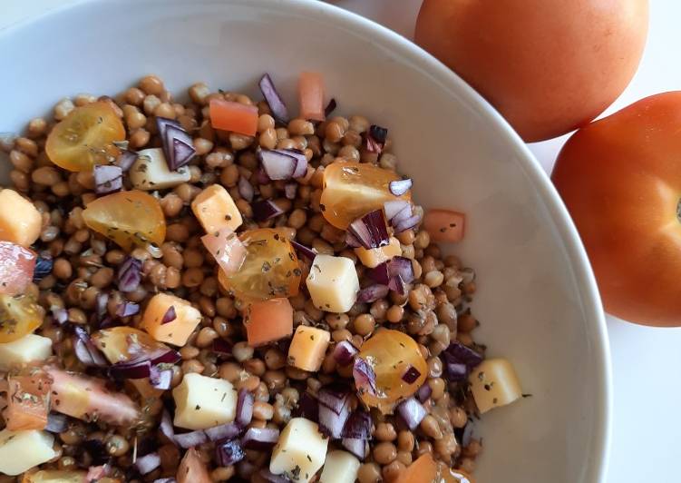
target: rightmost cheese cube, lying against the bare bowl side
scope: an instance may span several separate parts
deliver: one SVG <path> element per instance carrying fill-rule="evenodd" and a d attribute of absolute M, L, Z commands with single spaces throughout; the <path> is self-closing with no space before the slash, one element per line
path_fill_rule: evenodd
<path fill-rule="evenodd" d="M 468 380 L 480 412 L 511 404 L 522 396 L 518 376 L 505 359 L 483 360 L 472 370 Z"/>

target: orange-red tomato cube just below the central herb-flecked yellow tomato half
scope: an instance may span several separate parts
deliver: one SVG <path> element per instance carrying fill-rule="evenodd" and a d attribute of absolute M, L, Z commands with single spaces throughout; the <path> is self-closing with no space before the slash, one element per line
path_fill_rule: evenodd
<path fill-rule="evenodd" d="M 248 345 L 268 344 L 293 333 L 293 307 L 288 299 L 270 299 L 253 303 L 246 321 Z"/>

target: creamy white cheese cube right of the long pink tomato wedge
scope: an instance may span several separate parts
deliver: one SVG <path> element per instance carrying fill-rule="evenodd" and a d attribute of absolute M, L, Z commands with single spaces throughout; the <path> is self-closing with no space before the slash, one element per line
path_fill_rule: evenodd
<path fill-rule="evenodd" d="M 175 426 L 207 429 L 234 420 L 237 413 L 237 391 L 228 380 L 209 378 L 196 373 L 185 374 L 177 388 Z"/>

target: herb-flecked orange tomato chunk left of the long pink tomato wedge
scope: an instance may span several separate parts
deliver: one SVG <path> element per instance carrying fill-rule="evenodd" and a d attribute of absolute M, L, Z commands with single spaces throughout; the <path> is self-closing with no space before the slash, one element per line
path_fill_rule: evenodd
<path fill-rule="evenodd" d="M 8 378 L 5 422 L 12 431 L 44 429 L 47 424 L 52 380 L 42 370 L 32 372 Z"/>

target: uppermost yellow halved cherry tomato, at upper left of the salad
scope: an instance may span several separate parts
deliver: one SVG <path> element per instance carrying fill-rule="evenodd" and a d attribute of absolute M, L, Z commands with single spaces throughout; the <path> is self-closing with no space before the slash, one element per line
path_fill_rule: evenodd
<path fill-rule="evenodd" d="M 112 163 L 120 153 L 113 143 L 124 139 L 121 118 L 111 105 L 97 102 L 76 107 L 55 125 L 45 153 L 65 170 L 90 171 L 95 164 Z"/>

